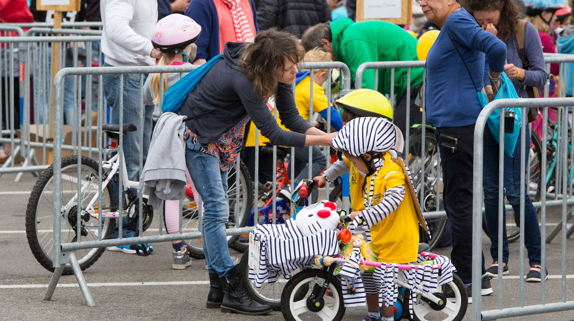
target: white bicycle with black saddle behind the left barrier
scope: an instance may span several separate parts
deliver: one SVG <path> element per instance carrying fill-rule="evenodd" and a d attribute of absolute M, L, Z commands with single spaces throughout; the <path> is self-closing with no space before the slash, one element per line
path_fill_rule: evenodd
<path fill-rule="evenodd" d="M 77 237 L 81 241 L 103 240 L 110 238 L 116 220 L 127 218 L 130 229 L 139 231 L 139 200 L 134 190 L 139 182 L 130 181 L 127 177 L 125 159 L 119 159 L 119 125 L 104 124 L 102 132 L 111 139 L 110 146 L 104 148 L 104 155 L 117 152 L 107 161 L 100 164 L 86 156 L 67 156 L 61 160 L 61 242 L 75 242 Z M 136 131 L 134 124 L 125 124 L 123 134 Z M 119 164 L 122 162 L 121 173 Z M 99 174 L 101 173 L 101 175 Z M 118 210 L 118 202 L 113 184 L 122 176 L 123 202 L 122 210 Z M 101 179 L 101 193 L 99 183 Z M 228 174 L 230 178 L 228 197 L 230 201 L 230 218 L 228 227 L 245 226 L 248 210 L 251 208 L 251 189 L 249 177 L 240 175 L 236 182 L 235 167 Z M 42 172 L 32 189 L 28 206 L 26 208 L 26 237 L 36 260 L 42 267 L 54 271 L 52 267 L 53 255 L 53 193 L 54 193 L 53 165 Z M 239 188 L 239 193 L 236 189 Z M 78 193 L 80 190 L 80 193 Z M 183 206 L 188 206 L 185 199 Z M 235 206 L 238 203 L 239 206 Z M 147 205 L 147 198 L 142 199 L 142 232 L 149 228 L 153 219 L 153 208 Z M 233 205 L 233 206 L 231 206 Z M 239 211 L 235 211 L 239 208 Z M 195 209 L 195 208 L 194 208 Z M 191 206 L 187 209 L 195 212 Z M 247 214 L 246 214 L 247 213 Z M 101 215 L 100 215 L 101 214 Z M 183 232 L 196 232 L 198 228 L 197 214 L 183 213 Z M 102 220 L 99 220 L 101 216 Z M 136 232 L 138 233 L 138 232 Z M 196 240 L 186 241 L 188 247 Z M 199 246 L 193 246 L 199 248 Z M 78 250 L 76 255 L 82 271 L 95 263 L 102 256 L 105 248 L 92 248 Z M 72 274 L 68 264 L 64 268 L 64 275 Z"/>

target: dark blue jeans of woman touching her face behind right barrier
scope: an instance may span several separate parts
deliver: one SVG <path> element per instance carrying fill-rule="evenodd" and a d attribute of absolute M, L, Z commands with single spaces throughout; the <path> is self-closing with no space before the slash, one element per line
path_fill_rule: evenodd
<path fill-rule="evenodd" d="M 516 221 L 520 216 L 520 147 L 521 135 L 514 149 L 513 157 L 504 155 L 504 190 L 506 199 L 514 210 Z M 488 225 L 488 236 L 490 237 L 490 255 L 492 261 L 498 261 L 498 143 L 488 128 L 484 130 L 484 165 L 483 165 L 483 189 L 484 189 L 484 213 Z M 525 159 L 528 161 L 530 152 L 530 130 L 526 127 Z M 528 166 L 525 166 L 528 175 Z M 525 181 L 528 176 L 525 177 Z M 528 250 L 528 260 L 530 265 L 540 264 L 540 226 L 536 209 L 528 196 L 528 188 L 524 191 L 524 245 Z M 506 222 L 506 211 L 502 212 L 502 221 Z M 502 226 L 502 261 L 508 263 L 508 238 L 506 236 L 506 224 Z"/>

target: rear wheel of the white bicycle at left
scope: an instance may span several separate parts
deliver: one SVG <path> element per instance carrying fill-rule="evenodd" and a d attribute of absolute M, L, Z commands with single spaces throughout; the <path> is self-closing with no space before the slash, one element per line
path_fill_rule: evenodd
<path fill-rule="evenodd" d="M 80 240 L 95 241 L 98 236 L 98 220 L 91 215 L 97 211 L 114 212 L 116 208 L 115 194 L 111 184 L 102 190 L 102 202 L 86 209 L 86 206 L 99 192 L 98 162 L 82 156 L 80 171 L 78 173 L 78 156 L 67 156 L 61 160 L 61 189 L 60 189 L 60 237 L 61 243 L 75 242 L 77 235 Z M 77 198 L 77 182 L 83 187 L 80 202 Z M 30 250 L 38 263 L 48 271 L 54 271 L 53 263 L 53 195 L 54 169 L 53 165 L 44 170 L 32 189 L 28 206 L 26 207 L 26 238 Z M 83 219 L 80 220 L 80 233 L 77 233 L 77 208 Z M 91 214 L 91 215 L 90 215 Z M 86 221 L 87 220 L 87 221 Z M 114 229 L 115 220 L 103 219 L 100 236 L 109 238 Z M 76 251 L 76 257 L 82 271 L 87 269 L 99 259 L 105 248 L 82 249 Z M 72 274 L 72 267 L 67 264 L 64 275 Z"/>

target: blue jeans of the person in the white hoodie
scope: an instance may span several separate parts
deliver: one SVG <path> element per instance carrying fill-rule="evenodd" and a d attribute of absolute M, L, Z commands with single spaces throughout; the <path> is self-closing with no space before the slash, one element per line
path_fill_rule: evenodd
<path fill-rule="evenodd" d="M 104 66 L 110 66 L 104 64 Z M 144 77 L 145 81 L 145 77 Z M 103 75 L 104 96 L 111 106 L 111 122 L 119 124 L 119 75 Z M 143 85 L 143 84 L 142 84 Z M 130 132 L 123 136 L 123 156 L 126 159 L 127 175 L 135 181 L 139 175 L 139 153 L 142 153 L 144 164 L 148 158 L 149 143 L 152 136 L 153 106 L 139 104 L 139 74 L 126 74 L 123 76 L 123 124 L 132 123 L 139 127 L 140 111 L 144 108 L 144 140 L 139 143 L 139 131 Z"/>

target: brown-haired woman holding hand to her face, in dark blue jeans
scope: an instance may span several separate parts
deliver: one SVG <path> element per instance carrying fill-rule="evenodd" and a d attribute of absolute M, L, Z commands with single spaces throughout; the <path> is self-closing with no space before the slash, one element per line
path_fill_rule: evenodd
<path fill-rule="evenodd" d="M 530 22 L 525 25 L 524 30 L 524 51 L 529 62 L 530 70 L 523 69 L 523 63 L 518 56 L 517 38 L 518 24 L 524 26 L 525 21 L 518 19 L 518 9 L 512 0 L 467 0 L 465 7 L 474 15 L 476 21 L 482 28 L 497 36 L 506 44 L 505 73 L 512 80 L 514 88 L 519 97 L 526 98 L 526 86 L 543 87 L 546 80 L 546 68 L 542 45 L 538 31 Z M 525 109 L 526 110 L 526 109 Z M 498 133 L 495 133 L 498 135 Z M 525 135 L 525 159 L 528 159 L 530 152 L 530 130 L 526 126 Z M 514 210 L 515 217 L 520 214 L 520 194 L 524 194 L 524 245 L 528 249 L 528 259 L 530 271 L 526 276 L 526 281 L 540 282 L 540 227 L 536 210 L 530 201 L 528 188 L 520 186 L 520 150 L 521 136 L 518 136 L 518 143 L 512 157 L 504 154 L 504 188 L 506 198 Z M 493 138 L 490 130 L 484 130 L 484 210 L 488 224 L 488 236 L 490 237 L 490 255 L 492 264 L 486 270 L 490 276 L 498 276 L 498 177 L 499 177 L 499 144 Z M 528 166 L 525 166 L 528 167 Z M 528 175 L 528 169 L 526 174 Z M 506 211 L 503 211 L 503 222 L 506 222 Z M 519 221 L 518 219 L 516 220 Z M 502 226 L 502 274 L 508 274 L 508 238 L 506 237 L 506 224 Z M 546 271 L 546 277 L 548 272 Z"/>

